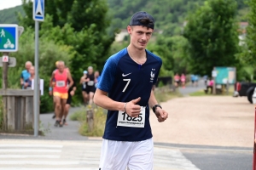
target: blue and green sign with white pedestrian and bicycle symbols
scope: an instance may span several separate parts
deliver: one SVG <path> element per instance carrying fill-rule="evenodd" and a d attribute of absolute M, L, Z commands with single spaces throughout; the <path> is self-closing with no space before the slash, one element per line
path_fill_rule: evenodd
<path fill-rule="evenodd" d="M 0 25 L 0 52 L 18 51 L 18 25 Z"/>

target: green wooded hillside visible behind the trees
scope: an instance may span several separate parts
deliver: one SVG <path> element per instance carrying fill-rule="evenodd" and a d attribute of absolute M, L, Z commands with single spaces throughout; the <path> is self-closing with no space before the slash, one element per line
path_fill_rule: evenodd
<path fill-rule="evenodd" d="M 237 19 L 246 21 L 247 5 L 243 0 L 237 0 Z M 156 20 L 155 28 L 167 35 L 180 34 L 183 22 L 189 12 L 204 3 L 204 0 L 108 0 L 109 16 L 113 19 L 108 31 L 116 28 L 125 29 L 131 19 L 131 14 L 137 11 L 147 11 Z M 21 6 L 0 11 L 1 24 L 18 23 L 16 13 L 24 14 Z"/>

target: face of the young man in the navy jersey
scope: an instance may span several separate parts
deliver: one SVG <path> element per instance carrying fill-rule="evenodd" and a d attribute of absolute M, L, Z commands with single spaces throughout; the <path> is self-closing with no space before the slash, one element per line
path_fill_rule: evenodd
<path fill-rule="evenodd" d="M 147 47 L 153 33 L 153 29 L 145 26 L 127 26 L 127 31 L 131 35 L 131 44 L 140 50 Z"/>

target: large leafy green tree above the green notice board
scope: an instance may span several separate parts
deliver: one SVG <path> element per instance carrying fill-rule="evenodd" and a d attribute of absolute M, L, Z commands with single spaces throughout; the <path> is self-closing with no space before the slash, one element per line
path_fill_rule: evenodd
<path fill-rule="evenodd" d="M 237 66 L 236 1 L 209 0 L 189 14 L 184 37 L 189 40 L 192 71 L 210 76 L 214 66 Z"/>

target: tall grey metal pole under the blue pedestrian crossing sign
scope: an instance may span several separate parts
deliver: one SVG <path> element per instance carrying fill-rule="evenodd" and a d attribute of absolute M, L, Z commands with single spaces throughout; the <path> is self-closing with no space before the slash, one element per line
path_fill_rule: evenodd
<path fill-rule="evenodd" d="M 39 96 L 38 96 L 38 31 L 39 31 L 39 22 L 35 21 L 35 78 L 34 78 L 34 136 L 38 136 L 38 107 L 39 107 Z"/>

